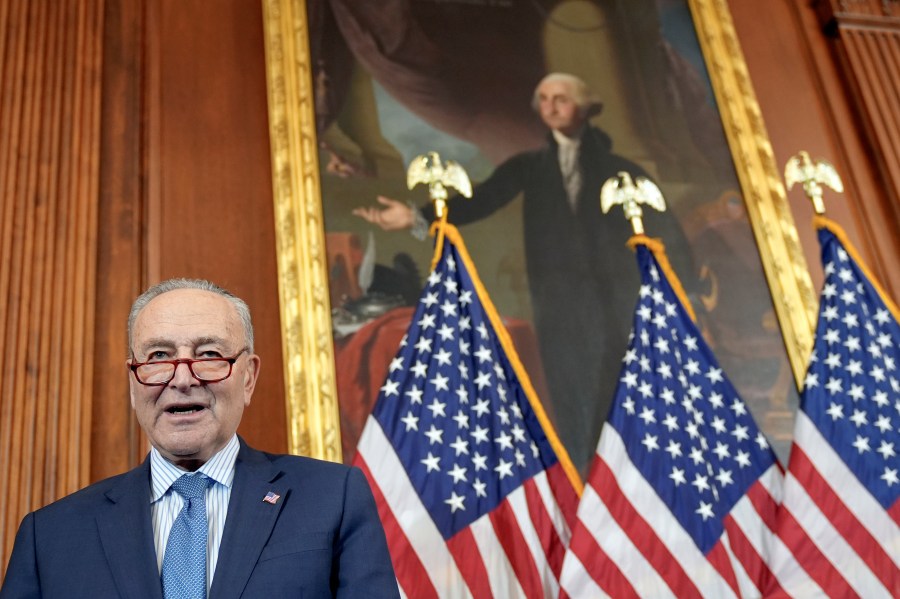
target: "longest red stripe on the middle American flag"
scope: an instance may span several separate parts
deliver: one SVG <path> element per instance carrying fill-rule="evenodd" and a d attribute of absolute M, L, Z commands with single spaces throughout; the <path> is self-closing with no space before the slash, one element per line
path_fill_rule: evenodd
<path fill-rule="evenodd" d="M 593 472 L 588 484 L 594 489 L 613 519 L 619 524 L 644 558 L 650 562 L 678 597 L 701 597 L 700 590 L 685 573 L 681 564 L 656 536 L 647 521 L 634 509 L 625 497 L 612 471 L 603 459 L 594 460 Z"/>

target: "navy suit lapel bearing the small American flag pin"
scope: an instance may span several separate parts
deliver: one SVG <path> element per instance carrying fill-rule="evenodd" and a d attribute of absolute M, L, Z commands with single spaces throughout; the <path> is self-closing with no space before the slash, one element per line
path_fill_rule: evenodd
<path fill-rule="evenodd" d="M 276 480 L 280 474 L 265 455 L 241 440 L 211 599 L 240 597 L 247 586 L 287 497 L 289 487 Z M 280 496 L 275 505 L 263 501 L 269 491 Z"/>

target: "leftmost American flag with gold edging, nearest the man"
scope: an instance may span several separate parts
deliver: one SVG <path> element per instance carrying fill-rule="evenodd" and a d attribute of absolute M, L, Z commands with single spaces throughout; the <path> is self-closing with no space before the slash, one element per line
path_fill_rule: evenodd
<path fill-rule="evenodd" d="M 556 597 L 581 483 L 445 227 L 354 463 L 407 596 Z"/>

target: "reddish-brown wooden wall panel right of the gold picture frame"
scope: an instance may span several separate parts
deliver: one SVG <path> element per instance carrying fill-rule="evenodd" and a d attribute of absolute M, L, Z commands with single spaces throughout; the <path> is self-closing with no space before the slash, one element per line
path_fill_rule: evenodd
<path fill-rule="evenodd" d="M 729 2 L 778 164 L 783 166 L 799 150 L 834 163 L 846 191 L 826 194 L 828 214 L 847 230 L 888 293 L 897 298 L 900 181 L 887 177 L 879 158 L 883 148 L 866 124 L 870 109 L 858 101 L 848 79 L 846 57 L 831 35 L 834 28 L 817 14 L 822 4 L 827 3 L 768 2 L 765 19 L 760 19 L 757 3 Z M 864 2 L 843 4 L 875 10 L 874 4 Z M 882 3 L 877 4 L 880 11 Z M 895 102 L 893 108 L 900 109 L 900 104 Z M 788 198 L 818 288 L 822 273 L 810 224 L 812 207 L 799 188 L 790 191 Z"/>

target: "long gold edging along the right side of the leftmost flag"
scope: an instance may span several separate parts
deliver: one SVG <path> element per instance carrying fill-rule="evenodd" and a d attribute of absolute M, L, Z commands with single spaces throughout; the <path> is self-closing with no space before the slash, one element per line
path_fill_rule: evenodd
<path fill-rule="evenodd" d="M 443 219 L 436 221 L 431 225 L 431 234 L 434 235 L 435 232 L 437 232 L 438 238 L 435 241 L 435 260 L 434 264 L 432 264 L 432 270 L 434 270 L 434 267 L 437 265 L 437 260 L 443 249 L 444 237 L 446 236 L 459 251 L 459 256 L 462 258 L 463 264 L 465 264 L 469 276 L 472 278 L 475 292 L 478 294 L 481 305 L 484 307 L 484 311 L 491 321 L 491 325 L 494 327 L 497 337 L 500 339 L 500 345 L 503 347 L 506 358 L 509 360 L 513 371 L 516 373 L 516 377 L 519 379 L 519 384 L 525 392 L 525 397 L 528 398 L 531 409 L 534 410 L 538 422 L 540 422 L 541 427 L 544 429 L 547 439 L 550 441 L 550 446 L 553 448 L 553 451 L 556 452 L 556 457 L 559 459 L 563 471 L 566 473 L 566 476 L 568 476 L 569 481 L 575 488 L 575 492 L 578 493 L 578 496 L 580 497 L 581 493 L 584 491 L 584 483 L 581 480 L 581 476 L 578 474 L 578 470 L 575 469 L 575 465 L 569 457 L 569 452 L 566 451 L 565 446 L 563 446 L 562 442 L 559 440 L 556 429 L 553 428 L 553 424 L 550 422 L 550 418 L 544 411 L 544 406 L 541 404 L 540 398 L 538 398 L 537 393 L 531 384 L 531 379 L 528 377 L 528 373 L 525 371 L 525 367 L 522 365 L 521 360 L 519 360 L 519 354 L 516 352 L 516 348 L 509 336 L 509 332 L 506 330 L 506 327 L 503 326 L 503 321 L 500 319 L 500 315 L 494 307 L 494 303 L 491 301 L 487 291 L 481 284 L 481 278 L 478 276 L 475 264 L 469 257 L 469 252 L 466 250 L 466 245 L 463 243 L 462 236 L 455 226 L 447 222 L 446 212 Z"/>

